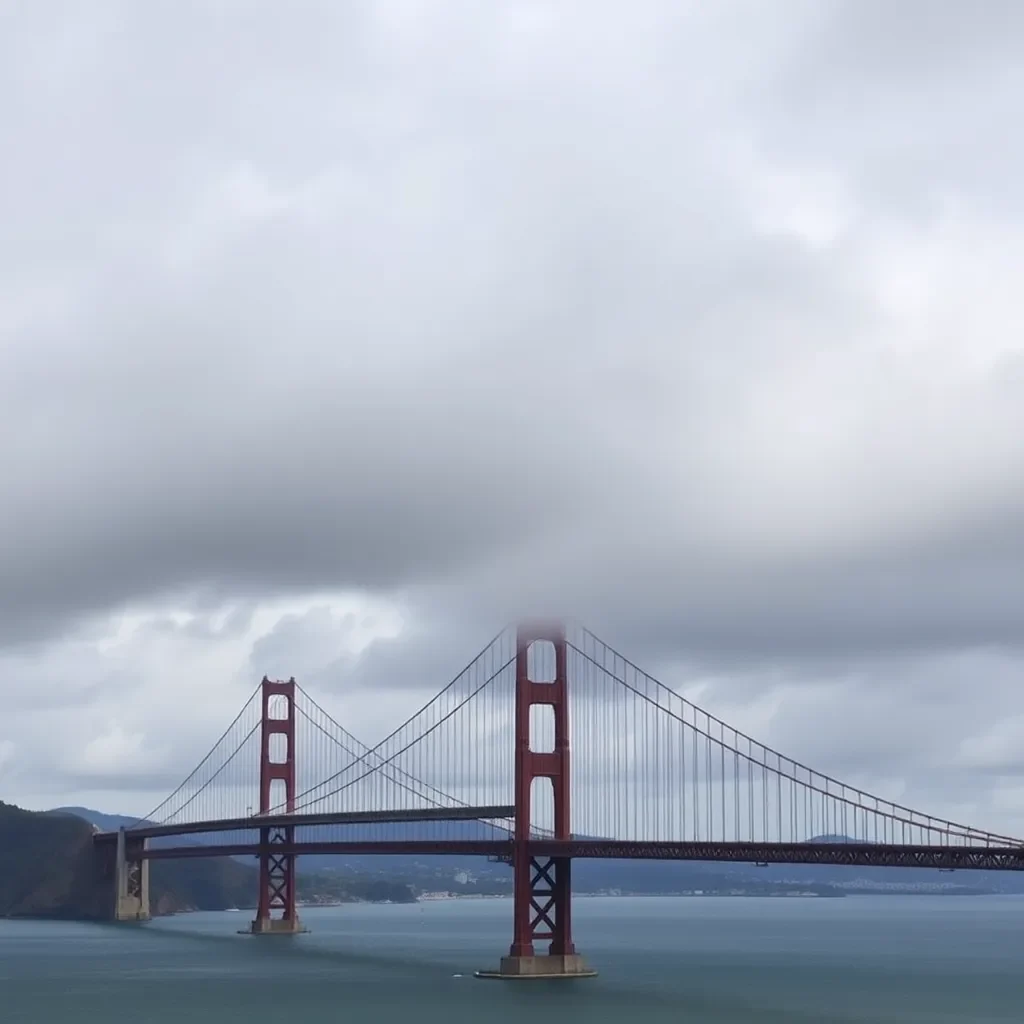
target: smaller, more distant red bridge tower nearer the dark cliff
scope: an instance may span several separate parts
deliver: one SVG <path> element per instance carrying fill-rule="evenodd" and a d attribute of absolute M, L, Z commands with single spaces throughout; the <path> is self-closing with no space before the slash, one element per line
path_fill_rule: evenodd
<path fill-rule="evenodd" d="M 281 813 L 278 792 L 284 792 L 285 811 L 295 812 L 295 679 L 287 682 L 263 677 L 263 715 L 260 725 L 259 812 Z M 283 709 L 285 714 L 274 714 Z M 278 738 L 280 737 L 280 741 Z M 278 783 L 278 784 L 275 784 Z M 253 935 L 296 935 L 305 931 L 295 907 L 295 827 L 260 829 L 259 901 Z"/>

